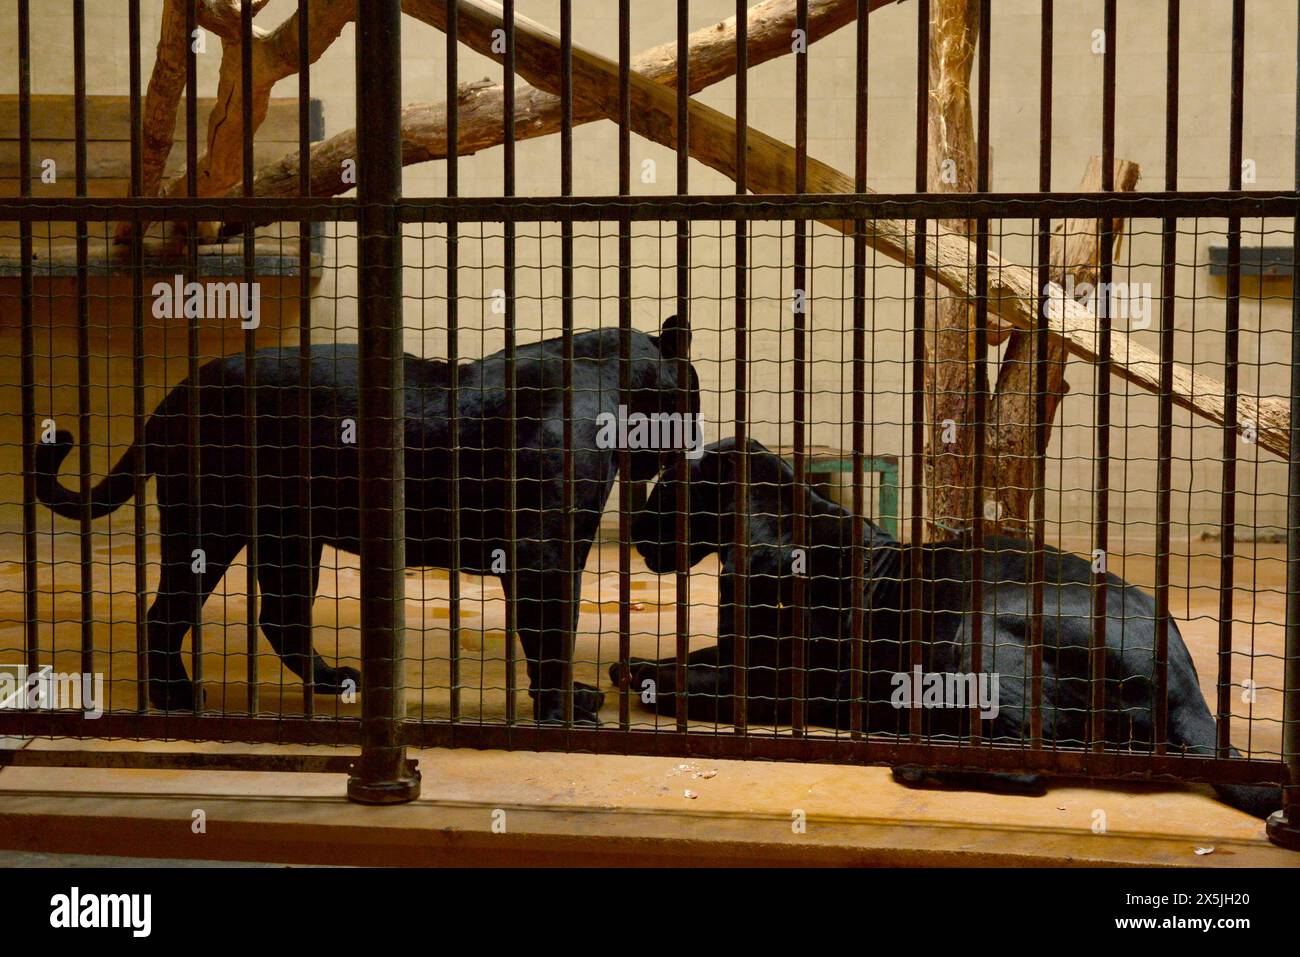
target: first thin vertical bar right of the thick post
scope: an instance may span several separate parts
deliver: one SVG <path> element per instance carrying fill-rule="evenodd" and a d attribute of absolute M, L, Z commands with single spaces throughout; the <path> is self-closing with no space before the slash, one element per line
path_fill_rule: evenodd
<path fill-rule="evenodd" d="M 447 0 L 447 199 L 460 195 L 460 0 Z M 447 411 L 451 416 L 451 568 L 447 571 L 447 667 L 452 722 L 460 719 L 460 224 L 447 224 Z M 515 640 L 506 633 L 506 644 Z"/>

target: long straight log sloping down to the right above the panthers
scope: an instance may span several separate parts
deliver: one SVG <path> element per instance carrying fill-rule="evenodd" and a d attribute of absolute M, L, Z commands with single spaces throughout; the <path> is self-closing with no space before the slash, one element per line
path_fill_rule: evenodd
<path fill-rule="evenodd" d="M 421 3 L 429 22 L 442 29 L 445 10 L 441 4 Z M 500 7 L 488 0 L 460 0 L 459 33 L 462 40 L 481 53 L 491 52 L 491 31 L 502 26 Z M 422 17 L 421 17 L 422 18 Z M 515 68 L 524 79 L 550 92 L 559 92 L 559 38 L 523 17 L 515 18 Z M 676 95 L 672 90 L 633 74 L 632 126 L 667 147 L 676 146 Z M 606 57 L 573 47 L 573 88 L 576 96 L 607 118 L 619 117 L 619 68 Z M 736 121 L 698 101 L 689 104 L 688 147 L 690 155 L 724 176 L 736 170 Z M 754 192 L 789 192 L 794 183 L 794 151 L 759 130 L 749 131 L 748 176 Z M 809 192 L 852 192 L 853 178 L 809 157 Z M 826 225 L 842 233 L 853 230 L 853 221 L 828 221 Z M 927 273 L 941 285 L 966 296 L 974 296 L 975 246 L 966 237 L 936 224 L 927 234 L 926 247 L 916 248 L 915 235 L 907 222 L 897 220 L 868 221 L 867 243 L 884 255 L 911 265 L 923 257 Z M 1035 274 L 1024 267 L 1006 263 L 989 252 L 989 311 L 1022 330 L 1032 330 L 1034 311 L 1040 302 Z M 1066 299 L 1060 285 L 1048 287 L 1048 329 L 1065 337 L 1069 348 L 1088 361 L 1100 351 L 1096 316 L 1083 304 Z M 1110 334 L 1112 369 L 1114 374 L 1149 391 L 1160 390 L 1160 356 L 1138 345 L 1123 332 Z M 1223 424 L 1225 393 L 1222 384 L 1183 365 L 1173 368 L 1173 402 L 1213 423 Z M 1282 458 L 1290 449 L 1290 407 L 1277 399 L 1238 398 L 1234 425 L 1254 423 L 1258 443 Z"/>

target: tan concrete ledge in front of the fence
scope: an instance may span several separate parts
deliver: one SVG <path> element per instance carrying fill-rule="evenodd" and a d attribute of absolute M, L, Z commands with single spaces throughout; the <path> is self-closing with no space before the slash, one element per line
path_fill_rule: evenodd
<path fill-rule="evenodd" d="M 396 807 L 350 804 L 341 775 L 9 767 L 0 846 L 389 866 L 1300 866 L 1264 822 L 1190 791 L 1069 784 L 1017 797 L 910 791 L 868 767 L 413 757 L 424 793 Z M 199 810 L 205 831 L 194 833 Z"/>

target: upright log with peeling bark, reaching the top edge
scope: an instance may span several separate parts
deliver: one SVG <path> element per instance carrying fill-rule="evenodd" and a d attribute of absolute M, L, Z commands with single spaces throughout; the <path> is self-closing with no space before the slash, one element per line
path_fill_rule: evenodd
<path fill-rule="evenodd" d="M 971 116 L 971 64 L 979 0 L 935 0 L 930 13 L 928 185 L 932 192 L 974 192 L 978 155 Z M 971 234 L 971 220 L 945 220 Z M 975 277 L 970 277 L 974 283 Z M 974 436 L 974 307 L 930 283 L 926 316 L 926 490 L 930 532 L 948 537 L 971 523 Z M 952 425 L 949 426 L 948 423 Z M 946 439 L 946 441 L 945 441 Z"/>

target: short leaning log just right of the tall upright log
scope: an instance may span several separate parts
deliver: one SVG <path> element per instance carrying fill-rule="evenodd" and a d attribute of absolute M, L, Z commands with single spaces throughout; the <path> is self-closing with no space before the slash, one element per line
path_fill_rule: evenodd
<path fill-rule="evenodd" d="M 1138 189 L 1141 168 L 1128 160 L 1115 160 L 1115 191 L 1131 192 Z M 1080 192 L 1101 190 L 1101 157 L 1093 156 L 1079 183 Z M 1124 220 L 1112 220 L 1114 250 L 1112 261 L 1119 255 Z M 1089 286 L 1097 282 L 1101 260 L 1101 231 L 1097 220 L 1067 218 L 1052 230 L 1052 281 L 1065 283 L 1074 280 L 1076 298 L 1087 298 Z M 1044 421 L 1056 421 L 1057 407 L 1069 391 L 1065 381 L 1067 359 L 1066 343 L 1058 337 L 1046 342 L 1046 408 Z M 1035 398 L 1036 348 L 1034 334 L 1015 332 L 997 373 L 997 393 L 989 407 L 987 449 L 996 468 L 996 480 L 988 482 L 989 497 L 1001 507 L 994 524 L 1009 534 L 1027 536 L 1032 532 L 1034 462 L 1037 456 L 1034 423 L 1037 413 Z M 1050 436 L 1050 432 L 1049 432 Z"/>

